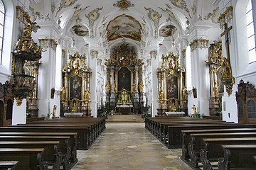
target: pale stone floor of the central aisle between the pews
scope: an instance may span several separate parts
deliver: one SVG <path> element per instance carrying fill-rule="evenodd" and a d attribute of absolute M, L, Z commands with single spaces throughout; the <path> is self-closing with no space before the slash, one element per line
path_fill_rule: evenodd
<path fill-rule="evenodd" d="M 107 123 L 107 129 L 87 151 L 78 151 L 73 170 L 185 170 L 181 149 L 167 149 L 143 123 Z"/>

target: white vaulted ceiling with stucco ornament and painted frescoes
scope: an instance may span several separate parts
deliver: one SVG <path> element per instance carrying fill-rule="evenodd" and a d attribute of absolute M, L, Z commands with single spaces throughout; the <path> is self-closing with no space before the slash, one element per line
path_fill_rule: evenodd
<path fill-rule="evenodd" d="M 218 3 L 217 0 L 41 0 L 39 4 L 42 1 L 51 1 L 53 20 L 60 23 L 63 34 L 81 40 L 100 38 L 105 47 L 124 39 L 141 46 L 149 38 L 174 40 L 191 24 L 211 22 L 206 16 Z M 46 3 L 37 10 L 43 7 L 46 8 Z"/>

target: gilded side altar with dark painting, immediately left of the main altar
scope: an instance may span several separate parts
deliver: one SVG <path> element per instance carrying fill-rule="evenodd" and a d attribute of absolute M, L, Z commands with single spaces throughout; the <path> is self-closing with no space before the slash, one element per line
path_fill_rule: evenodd
<path fill-rule="evenodd" d="M 70 55 L 69 62 L 63 68 L 63 88 L 60 91 L 63 113 L 84 113 L 91 115 L 90 108 L 90 79 L 92 72 L 87 67 L 86 56 Z"/>

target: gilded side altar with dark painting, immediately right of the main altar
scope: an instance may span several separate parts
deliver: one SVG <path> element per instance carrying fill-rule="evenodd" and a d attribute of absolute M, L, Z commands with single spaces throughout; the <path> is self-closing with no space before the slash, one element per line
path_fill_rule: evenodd
<path fill-rule="evenodd" d="M 178 56 L 174 55 L 173 52 L 169 52 L 169 55 L 166 56 L 163 55 L 161 59 L 161 67 L 156 70 L 159 80 L 157 114 L 162 116 L 165 115 L 166 111 L 184 111 L 187 113 L 185 69 L 178 62 Z M 176 94 L 171 93 L 172 91 L 176 91 Z"/>

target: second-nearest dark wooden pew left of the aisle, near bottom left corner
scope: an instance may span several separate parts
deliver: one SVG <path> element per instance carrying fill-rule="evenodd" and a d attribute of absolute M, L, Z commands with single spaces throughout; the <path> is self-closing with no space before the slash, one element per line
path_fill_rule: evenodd
<path fill-rule="evenodd" d="M 48 163 L 43 162 L 43 148 L 0 148 L 0 161 L 18 161 L 16 170 L 48 170 Z"/>

